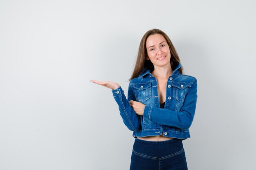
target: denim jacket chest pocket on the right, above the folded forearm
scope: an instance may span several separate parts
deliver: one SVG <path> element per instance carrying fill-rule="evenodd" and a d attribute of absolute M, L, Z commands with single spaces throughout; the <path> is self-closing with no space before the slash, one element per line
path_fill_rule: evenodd
<path fill-rule="evenodd" d="M 173 97 L 179 101 L 184 102 L 184 99 L 186 97 L 186 94 L 189 91 L 189 88 L 191 88 L 190 83 L 173 83 Z"/>

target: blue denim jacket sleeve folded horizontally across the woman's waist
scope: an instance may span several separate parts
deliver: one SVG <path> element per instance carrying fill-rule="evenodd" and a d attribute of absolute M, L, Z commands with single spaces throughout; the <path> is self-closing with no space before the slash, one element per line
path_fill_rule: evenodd
<path fill-rule="evenodd" d="M 188 129 L 195 115 L 197 97 L 197 80 L 195 78 L 180 111 L 146 105 L 143 116 L 156 124 Z"/>

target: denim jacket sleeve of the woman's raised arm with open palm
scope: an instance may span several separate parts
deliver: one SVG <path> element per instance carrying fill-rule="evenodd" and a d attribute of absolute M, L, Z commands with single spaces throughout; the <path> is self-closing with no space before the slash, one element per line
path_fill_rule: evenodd
<path fill-rule="evenodd" d="M 124 124 L 129 130 L 135 131 L 141 125 L 140 117 L 135 113 L 133 108 L 130 106 L 129 101 L 135 100 L 135 95 L 132 91 L 131 81 L 128 86 L 128 99 L 124 95 L 124 90 L 119 86 L 119 88 L 112 90 L 113 97 L 119 106 L 119 113 L 124 121 Z"/>

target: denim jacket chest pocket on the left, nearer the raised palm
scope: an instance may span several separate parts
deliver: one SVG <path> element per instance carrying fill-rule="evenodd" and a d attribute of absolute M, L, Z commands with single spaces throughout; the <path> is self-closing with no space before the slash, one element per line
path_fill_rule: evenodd
<path fill-rule="evenodd" d="M 135 97 L 139 102 L 146 102 L 151 97 L 151 82 L 144 84 L 133 84 Z"/>

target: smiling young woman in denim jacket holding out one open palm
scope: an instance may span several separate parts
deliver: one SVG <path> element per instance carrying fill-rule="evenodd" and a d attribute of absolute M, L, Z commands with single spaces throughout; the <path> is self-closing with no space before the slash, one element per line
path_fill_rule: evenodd
<path fill-rule="evenodd" d="M 190 137 L 197 79 L 183 68 L 168 36 L 145 33 L 129 79 L 128 99 L 117 83 L 90 80 L 112 89 L 124 124 L 133 131 L 130 170 L 186 170 L 182 140 Z"/>

